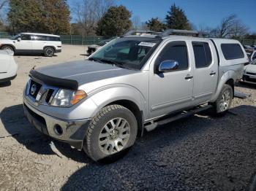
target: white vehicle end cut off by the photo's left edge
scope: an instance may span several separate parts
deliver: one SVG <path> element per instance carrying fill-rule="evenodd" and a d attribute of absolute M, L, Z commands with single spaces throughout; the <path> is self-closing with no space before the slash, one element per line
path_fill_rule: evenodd
<path fill-rule="evenodd" d="M 0 82 L 9 82 L 15 79 L 18 65 L 11 50 L 0 50 Z"/>

